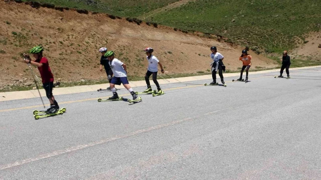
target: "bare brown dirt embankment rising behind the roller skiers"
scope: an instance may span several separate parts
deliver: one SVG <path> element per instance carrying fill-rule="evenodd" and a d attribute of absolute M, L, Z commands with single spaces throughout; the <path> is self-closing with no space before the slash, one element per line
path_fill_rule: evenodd
<path fill-rule="evenodd" d="M 128 65 L 129 75 L 143 75 L 143 49 L 153 47 L 154 55 L 169 73 L 192 73 L 210 69 L 210 46 L 218 46 L 228 69 L 241 66 L 242 47 L 232 47 L 215 39 L 203 38 L 169 27 L 137 25 L 106 14 L 81 14 L 74 10 L 33 8 L 16 2 L 0 1 L 0 88 L 31 82 L 20 54 L 42 44 L 55 78 L 62 81 L 105 78 L 99 71 L 99 47 L 114 50 Z M 272 60 L 253 52 L 252 66 L 274 67 Z M 38 72 L 37 72 L 38 73 Z M 20 80 L 20 81 L 19 81 Z"/>

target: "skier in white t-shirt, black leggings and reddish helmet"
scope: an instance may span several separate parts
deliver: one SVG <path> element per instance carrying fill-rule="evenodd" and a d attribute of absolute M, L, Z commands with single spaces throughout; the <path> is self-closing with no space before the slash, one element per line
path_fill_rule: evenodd
<path fill-rule="evenodd" d="M 154 49 L 151 48 L 151 47 L 145 48 L 145 52 L 146 52 L 146 55 L 147 55 L 146 58 L 148 60 L 148 68 L 147 68 L 147 72 L 146 72 L 146 75 L 145 75 L 147 89 L 144 90 L 144 92 L 151 92 L 152 91 L 151 86 L 150 86 L 150 82 L 149 82 L 149 77 L 152 74 L 152 80 L 156 84 L 157 93 L 162 93 L 163 91 L 162 91 L 161 87 L 159 87 L 159 83 L 157 81 L 158 64 L 159 64 L 159 66 L 161 66 L 162 73 L 164 73 L 164 69 L 163 69 L 162 63 L 159 62 L 157 57 L 151 54 L 153 51 L 154 51 Z"/>

